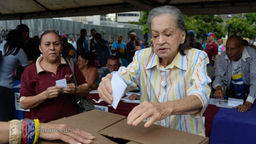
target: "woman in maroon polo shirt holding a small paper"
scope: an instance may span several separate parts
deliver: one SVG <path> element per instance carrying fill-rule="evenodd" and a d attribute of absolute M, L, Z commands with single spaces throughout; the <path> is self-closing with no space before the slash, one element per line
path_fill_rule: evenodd
<path fill-rule="evenodd" d="M 74 63 L 74 75 L 62 56 L 61 38 L 48 30 L 40 38 L 40 56 L 21 76 L 20 105 L 30 109 L 30 119 L 50 122 L 78 113 L 75 95 L 85 97 L 89 87 L 82 72 Z M 76 78 L 77 85 L 74 84 Z M 56 80 L 65 79 L 67 87 L 56 86 Z M 24 118 L 25 115 L 24 115 Z"/>

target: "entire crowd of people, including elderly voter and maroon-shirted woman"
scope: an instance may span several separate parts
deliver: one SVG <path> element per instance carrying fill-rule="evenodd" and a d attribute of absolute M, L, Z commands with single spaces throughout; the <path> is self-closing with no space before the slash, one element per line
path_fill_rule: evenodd
<path fill-rule="evenodd" d="M 224 46 L 223 39 L 216 44 L 215 33 L 210 32 L 202 45 L 193 30 L 186 30 L 180 10 L 172 6 L 152 9 L 147 24 L 151 44 L 134 32 L 128 43 L 122 34 L 117 41 L 108 41 L 96 29 L 90 30 L 87 39 L 84 28 L 77 41 L 51 30 L 36 40 L 29 38 L 26 25 L 17 26 L 0 43 L 0 121 L 11 120 L 13 77 L 21 80 L 21 107 L 30 109 L 24 118 L 40 123 L 77 114 L 75 95 L 86 97 L 90 90 L 98 90 L 111 104 L 114 73 L 128 85 L 127 92 L 141 92 L 130 98 L 141 99 L 141 104 L 128 115 L 128 124 L 145 120 L 145 127 L 158 124 L 205 136 L 202 113 L 209 97 L 224 98 L 225 93 L 225 98 L 244 100 L 235 107 L 238 111 L 250 109 L 256 98 L 256 50 L 242 37 L 232 35 Z M 73 60 L 74 75 L 68 59 Z M 107 69 L 100 76 L 101 67 Z M 212 72 L 215 76 L 209 75 Z M 67 80 L 66 88 L 56 86 L 59 79 Z M 90 143 L 93 137 L 87 139 Z"/>

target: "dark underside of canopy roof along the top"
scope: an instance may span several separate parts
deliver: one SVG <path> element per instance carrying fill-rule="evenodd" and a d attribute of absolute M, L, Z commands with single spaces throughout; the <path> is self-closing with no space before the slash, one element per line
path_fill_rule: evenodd
<path fill-rule="evenodd" d="M 256 0 L 0 0 L 0 20 L 87 16 L 172 5 L 186 15 L 256 12 Z"/>

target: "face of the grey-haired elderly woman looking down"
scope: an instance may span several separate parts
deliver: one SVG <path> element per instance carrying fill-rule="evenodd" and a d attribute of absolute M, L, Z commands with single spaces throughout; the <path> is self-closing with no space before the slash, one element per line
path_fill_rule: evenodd
<path fill-rule="evenodd" d="M 172 61 L 180 44 L 185 41 L 185 31 L 182 32 L 177 27 L 175 17 L 165 14 L 152 20 L 151 31 L 155 54 L 162 59 Z"/>

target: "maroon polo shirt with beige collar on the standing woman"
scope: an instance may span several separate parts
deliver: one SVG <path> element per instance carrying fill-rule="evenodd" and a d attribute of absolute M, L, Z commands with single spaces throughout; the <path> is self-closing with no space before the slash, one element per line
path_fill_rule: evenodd
<path fill-rule="evenodd" d="M 55 81 L 60 79 L 70 80 L 74 83 L 73 74 L 67 61 L 61 57 L 61 64 L 57 68 L 56 75 L 53 72 L 44 71 L 40 66 L 42 57 L 36 64 L 29 65 L 22 74 L 20 85 L 20 98 L 31 97 L 47 90 L 48 87 L 56 85 Z M 74 62 L 74 61 L 73 61 Z M 77 85 L 86 83 L 81 70 L 74 63 L 74 74 Z M 77 114 L 75 95 L 60 93 L 58 97 L 46 99 L 34 109 L 30 109 L 31 119 L 38 118 L 40 122 L 70 117 Z"/>

